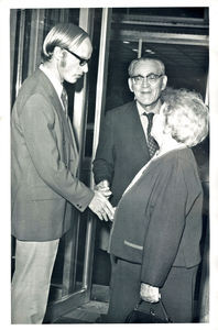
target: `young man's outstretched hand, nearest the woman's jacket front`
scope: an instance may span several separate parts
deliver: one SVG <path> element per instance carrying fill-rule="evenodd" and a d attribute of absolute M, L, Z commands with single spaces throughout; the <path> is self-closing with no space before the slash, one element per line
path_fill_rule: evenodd
<path fill-rule="evenodd" d="M 98 216 L 100 220 L 112 221 L 115 213 L 113 207 L 100 191 L 95 190 L 94 193 L 95 196 L 88 207 Z"/>

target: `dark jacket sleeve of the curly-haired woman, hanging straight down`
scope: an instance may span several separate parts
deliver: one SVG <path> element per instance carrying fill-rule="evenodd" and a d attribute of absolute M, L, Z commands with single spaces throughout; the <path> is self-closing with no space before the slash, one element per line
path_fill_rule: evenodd
<path fill-rule="evenodd" d="M 148 210 L 141 282 L 162 287 L 176 257 L 185 228 L 187 188 L 177 162 L 163 164 Z"/>

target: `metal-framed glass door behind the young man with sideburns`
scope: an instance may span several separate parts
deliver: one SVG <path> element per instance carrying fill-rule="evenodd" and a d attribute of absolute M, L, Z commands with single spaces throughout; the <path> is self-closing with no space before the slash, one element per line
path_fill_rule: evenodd
<path fill-rule="evenodd" d="M 22 81 L 31 75 L 41 63 L 41 50 L 44 37 L 50 29 L 58 22 L 73 22 L 94 35 L 95 9 L 13 9 L 11 14 L 11 106 L 15 100 Z M 101 20 L 102 16 L 102 20 Z M 102 84 L 106 79 L 105 73 L 107 52 L 107 33 L 109 11 L 100 11 L 100 29 L 96 37 L 101 51 L 96 53 L 92 61 L 98 64 L 99 73 L 96 72 L 98 88 L 91 89 L 97 94 L 96 100 L 90 97 L 89 75 L 86 75 L 76 85 L 66 84 L 69 99 L 69 117 L 74 127 L 79 146 L 79 178 L 92 187 L 90 170 L 91 158 L 86 157 L 86 131 L 87 118 L 92 105 L 96 117 L 94 129 L 95 139 L 89 145 L 89 153 L 95 153 L 96 141 L 99 129 L 99 113 L 102 109 Z M 101 23 L 102 21 L 102 23 Z M 98 23 L 97 22 L 97 23 Z M 102 28 L 101 28 L 102 24 Z M 99 26 L 98 26 L 99 28 Z M 103 51 L 102 51 L 103 50 Z M 95 53 L 95 52 L 94 52 Z M 91 67 L 91 65 L 90 65 Z M 90 69 L 91 70 L 91 69 Z M 101 87 L 100 87 L 101 86 Z M 88 158 L 88 162 L 87 162 Z M 89 300 L 92 274 L 92 257 L 95 244 L 95 217 L 89 212 L 74 211 L 70 230 L 61 239 L 58 253 L 54 265 L 48 297 L 48 307 L 45 322 L 54 321 L 61 315 L 80 306 Z M 15 243 L 12 239 L 12 272 L 14 268 Z"/>

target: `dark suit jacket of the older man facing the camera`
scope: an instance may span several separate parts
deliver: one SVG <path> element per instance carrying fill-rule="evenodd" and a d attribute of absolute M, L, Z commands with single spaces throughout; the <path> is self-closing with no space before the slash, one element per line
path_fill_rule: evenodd
<path fill-rule="evenodd" d="M 149 161 L 146 139 L 135 101 L 108 111 L 94 161 L 94 176 L 96 184 L 109 180 L 113 206 L 117 206 L 129 183 Z"/>

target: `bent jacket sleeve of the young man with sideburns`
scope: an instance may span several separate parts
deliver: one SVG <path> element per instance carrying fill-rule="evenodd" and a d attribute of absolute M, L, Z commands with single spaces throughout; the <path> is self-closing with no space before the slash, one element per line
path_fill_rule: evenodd
<path fill-rule="evenodd" d="M 61 160 L 54 123 L 54 109 L 50 102 L 42 95 L 31 96 L 20 116 L 31 160 L 39 176 L 50 188 L 84 211 L 94 193 L 74 177 Z"/>

